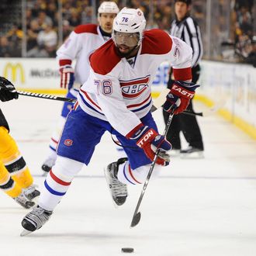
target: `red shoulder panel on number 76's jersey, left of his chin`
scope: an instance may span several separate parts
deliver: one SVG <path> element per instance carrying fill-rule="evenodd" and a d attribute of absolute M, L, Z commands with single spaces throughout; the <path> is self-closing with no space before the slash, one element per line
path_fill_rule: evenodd
<path fill-rule="evenodd" d="M 110 39 L 90 56 L 91 67 L 95 73 L 108 74 L 116 67 L 121 57 L 118 56 L 115 49 L 115 43 Z"/>

